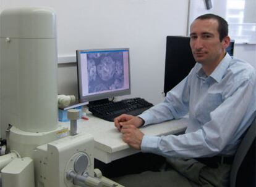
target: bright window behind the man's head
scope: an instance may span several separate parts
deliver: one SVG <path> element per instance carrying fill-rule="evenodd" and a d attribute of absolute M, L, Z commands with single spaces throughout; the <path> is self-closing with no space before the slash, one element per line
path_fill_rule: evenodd
<path fill-rule="evenodd" d="M 190 0 L 189 3 L 189 25 L 199 15 L 217 14 L 228 21 L 229 36 L 236 44 L 256 44 L 255 0 L 211 0 L 210 10 L 205 8 L 205 0 Z"/>

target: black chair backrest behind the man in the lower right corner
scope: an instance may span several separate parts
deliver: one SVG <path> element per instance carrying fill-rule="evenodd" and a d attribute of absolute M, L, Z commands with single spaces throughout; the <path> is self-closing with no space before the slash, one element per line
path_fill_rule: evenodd
<path fill-rule="evenodd" d="M 256 119 L 252 122 L 236 151 L 230 173 L 230 187 L 256 186 Z"/>

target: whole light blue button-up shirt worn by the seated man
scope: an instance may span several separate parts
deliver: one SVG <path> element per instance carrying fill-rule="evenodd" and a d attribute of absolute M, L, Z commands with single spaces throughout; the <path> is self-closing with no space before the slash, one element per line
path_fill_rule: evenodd
<path fill-rule="evenodd" d="M 228 54 L 210 76 L 196 63 L 189 75 L 168 92 L 163 103 L 139 116 L 145 124 L 179 119 L 189 113 L 182 135 L 144 135 L 142 152 L 166 157 L 232 155 L 256 111 L 255 69 Z"/>

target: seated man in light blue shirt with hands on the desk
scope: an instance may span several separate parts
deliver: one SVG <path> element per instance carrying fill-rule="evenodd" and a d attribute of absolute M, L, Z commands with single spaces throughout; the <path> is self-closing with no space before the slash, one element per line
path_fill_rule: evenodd
<path fill-rule="evenodd" d="M 190 47 L 197 63 L 189 75 L 168 92 L 163 103 L 139 116 L 122 114 L 114 119 L 122 140 L 144 153 L 167 157 L 170 164 L 166 172 L 128 175 L 116 178 L 117 182 L 124 186 L 229 185 L 233 155 L 256 111 L 255 70 L 226 53 L 229 42 L 226 20 L 213 14 L 196 18 L 190 26 Z M 187 113 L 189 124 L 182 135 L 156 137 L 138 129 Z"/>

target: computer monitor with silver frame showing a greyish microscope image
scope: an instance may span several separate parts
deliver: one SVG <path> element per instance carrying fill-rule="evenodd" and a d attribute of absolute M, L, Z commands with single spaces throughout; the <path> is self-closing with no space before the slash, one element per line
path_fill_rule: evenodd
<path fill-rule="evenodd" d="M 108 101 L 130 94 L 129 49 L 77 50 L 79 99 Z"/>

